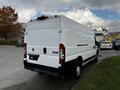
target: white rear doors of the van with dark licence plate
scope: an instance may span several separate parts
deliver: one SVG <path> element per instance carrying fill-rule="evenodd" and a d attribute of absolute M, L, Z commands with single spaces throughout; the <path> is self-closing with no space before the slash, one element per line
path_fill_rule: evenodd
<path fill-rule="evenodd" d="M 58 68 L 60 28 L 32 26 L 26 32 L 28 62 Z"/>

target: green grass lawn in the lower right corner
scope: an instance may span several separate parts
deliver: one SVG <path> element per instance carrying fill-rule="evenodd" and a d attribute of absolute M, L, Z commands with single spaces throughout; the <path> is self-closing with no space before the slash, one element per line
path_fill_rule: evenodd
<path fill-rule="evenodd" d="M 120 90 L 120 56 L 94 66 L 73 90 Z"/>

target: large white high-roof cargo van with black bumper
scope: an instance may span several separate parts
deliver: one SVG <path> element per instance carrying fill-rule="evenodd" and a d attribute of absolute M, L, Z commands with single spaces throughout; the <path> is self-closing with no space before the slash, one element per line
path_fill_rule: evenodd
<path fill-rule="evenodd" d="M 62 15 L 30 21 L 24 42 L 24 67 L 38 73 L 79 77 L 82 66 L 98 59 L 94 31 Z"/>

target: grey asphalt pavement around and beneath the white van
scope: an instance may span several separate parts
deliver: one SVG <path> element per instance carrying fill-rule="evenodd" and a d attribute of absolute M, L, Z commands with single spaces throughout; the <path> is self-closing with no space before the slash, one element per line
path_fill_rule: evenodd
<path fill-rule="evenodd" d="M 70 77 L 38 75 L 36 72 L 25 70 L 23 52 L 23 48 L 0 46 L 0 90 L 70 90 L 77 83 L 77 80 Z M 120 51 L 100 51 L 100 61 L 116 55 L 120 55 Z M 94 65 L 95 63 L 86 65 L 81 78 Z"/>

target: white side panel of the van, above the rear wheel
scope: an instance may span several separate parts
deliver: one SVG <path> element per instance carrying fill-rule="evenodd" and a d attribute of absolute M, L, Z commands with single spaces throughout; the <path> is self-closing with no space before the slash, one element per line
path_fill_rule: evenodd
<path fill-rule="evenodd" d="M 62 18 L 62 42 L 66 46 L 66 61 L 82 56 L 83 60 L 96 55 L 94 32 L 82 25 Z"/>

